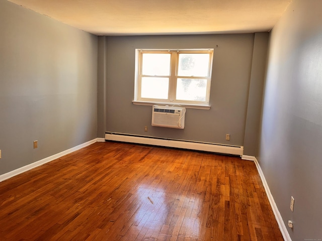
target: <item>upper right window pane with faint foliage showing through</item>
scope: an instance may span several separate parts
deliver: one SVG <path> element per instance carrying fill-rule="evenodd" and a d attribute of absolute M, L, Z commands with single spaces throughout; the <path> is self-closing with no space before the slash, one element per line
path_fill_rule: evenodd
<path fill-rule="evenodd" d="M 179 54 L 179 76 L 208 76 L 209 54 Z"/>

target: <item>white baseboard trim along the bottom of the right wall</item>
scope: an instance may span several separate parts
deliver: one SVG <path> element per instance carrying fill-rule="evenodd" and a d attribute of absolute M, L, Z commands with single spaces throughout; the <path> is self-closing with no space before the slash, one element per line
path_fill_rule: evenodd
<path fill-rule="evenodd" d="M 256 157 L 253 157 L 253 158 L 254 158 L 254 162 L 255 162 L 255 165 L 257 167 L 258 173 L 260 174 L 260 177 L 262 179 L 262 182 L 263 182 L 263 185 L 264 185 L 268 200 L 269 200 L 269 202 L 271 204 L 271 207 L 273 209 L 273 213 L 275 215 L 276 221 L 277 221 L 278 226 L 279 226 L 279 228 L 281 230 L 281 233 L 283 235 L 283 238 L 284 238 L 285 241 L 292 241 L 292 239 L 290 237 L 290 234 L 288 233 L 287 228 L 286 228 L 286 226 L 284 224 L 284 221 L 283 221 L 283 218 L 281 216 L 281 213 L 279 212 L 279 210 L 278 210 L 278 208 L 276 206 L 276 203 L 274 201 L 274 198 L 272 196 L 270 188 L 268 187 L 268 184 L 266 182 L 266 179 L 265 179 L 264 173 L 262 171 L 262 168 L 261 168 L 260 164 L 258 163 Z M 245 160 L 248 160 L 248 159 L 245 159 Z"/>

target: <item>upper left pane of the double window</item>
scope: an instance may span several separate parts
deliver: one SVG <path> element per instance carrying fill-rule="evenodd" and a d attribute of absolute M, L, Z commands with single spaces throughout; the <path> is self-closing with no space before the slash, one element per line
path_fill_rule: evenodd
<path fill-rule="evenodd" d="M 142 54 L 143 75 L 170 75 L 171 54 Z"/>

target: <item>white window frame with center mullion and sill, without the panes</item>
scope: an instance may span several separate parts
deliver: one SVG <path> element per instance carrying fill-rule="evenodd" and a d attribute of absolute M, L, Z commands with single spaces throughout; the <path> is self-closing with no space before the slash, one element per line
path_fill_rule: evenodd
<path fill-rule="evenodd" d="M 142 55 L 144 53 L 170 53 L 171 54 L 171 66 L 169 76 L 150 76 L 142 75 Z M 209 54 L 209 66 L 207 76 L 178 76 L 179 66 L 179 54 L 182 53 L 207 53 Z M 139 105 L 153 105 L 153 104 L 166 104 L 166 105 L 182 105 L 187 108 L 202 108 L 209 109 L 210 98 L 210 84 L 212 74 L 212 61 L 213 61 L 213 49 L 136 49 L 135 52 L 135 83 L 134 83 L 134 104 Z M 157 98 L 143 98 L 141 97 L 141 78 L 142 77 L 169 77 L 169 93 L 168 99 Z M 191 79 L 206 79 L 206 100 L 205 101 L 188 101 L 176 99 L 177 92 L 177 79 L 178 78 L 191 78 Z"/>

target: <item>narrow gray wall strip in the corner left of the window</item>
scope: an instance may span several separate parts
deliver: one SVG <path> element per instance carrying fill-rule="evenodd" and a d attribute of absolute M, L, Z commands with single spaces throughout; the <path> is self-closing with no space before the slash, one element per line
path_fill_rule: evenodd
<path fill-rule="evenodd" d="M 106 128 L 106 37 L 98 37 L 97 137 L 105 137 Z"/>

